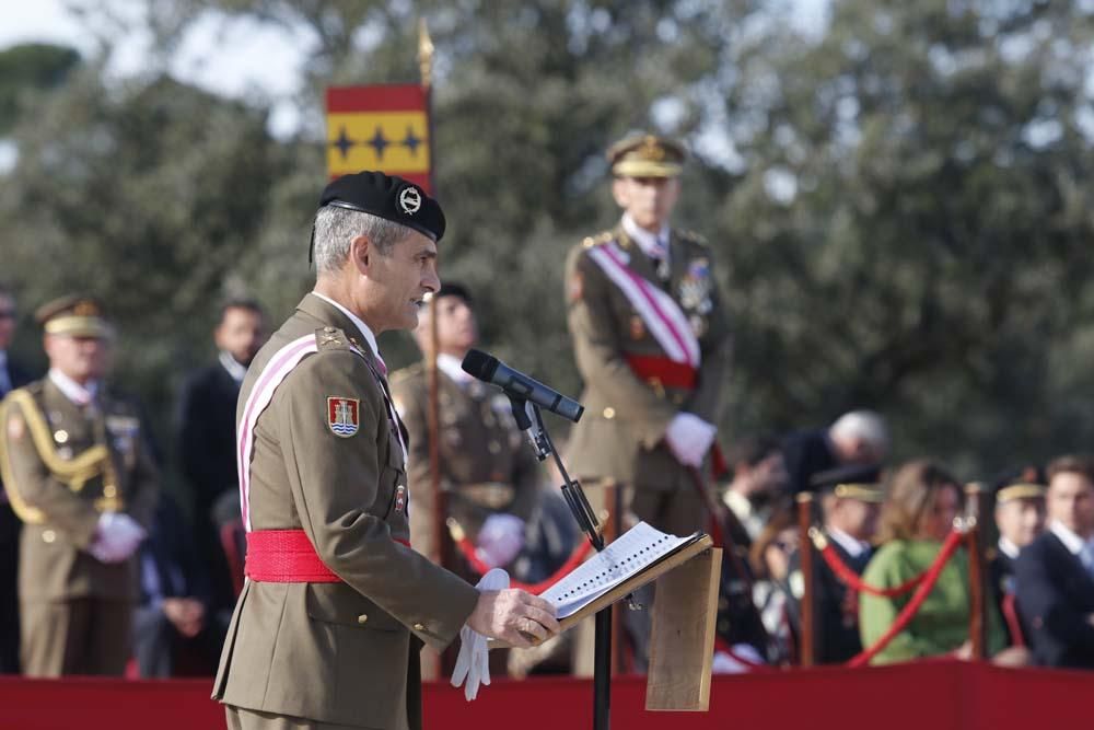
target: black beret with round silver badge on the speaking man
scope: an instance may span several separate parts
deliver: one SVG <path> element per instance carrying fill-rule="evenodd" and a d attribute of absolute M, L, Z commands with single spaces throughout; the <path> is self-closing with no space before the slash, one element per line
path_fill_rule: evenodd
<path fill-rule="evenodd" d="M 319 207 L 338 206 L 372 213 L 440 241 L 444 235 L 441 205 L 414 183 L 365 170 L 342 175 L 323 190 Z"/>

